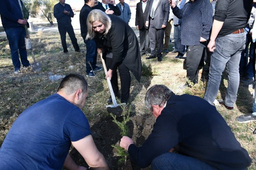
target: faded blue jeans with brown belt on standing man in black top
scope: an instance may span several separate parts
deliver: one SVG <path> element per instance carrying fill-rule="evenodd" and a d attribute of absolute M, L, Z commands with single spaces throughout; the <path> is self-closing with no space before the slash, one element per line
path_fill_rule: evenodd
<path fill-rule="evenodd" d="M 211 55 L 209 68 L 209 80 L 207 83 L 204 99 L 213 104 L 217 96 L 222 72 L 227 67 L 228 87 L 225 96 L 225 105 L 233 107 L 237 100 L 239 86 L 239 63 L 241 52 L 245 49 L 246 33 L 229 34 L 224 37 L 216 38 L 216 49 Z"/>

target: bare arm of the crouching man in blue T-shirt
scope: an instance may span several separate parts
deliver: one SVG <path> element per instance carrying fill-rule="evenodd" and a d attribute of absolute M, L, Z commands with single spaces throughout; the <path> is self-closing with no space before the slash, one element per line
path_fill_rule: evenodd
<path fill-rule="evenodd" d="M 88 135 L 81 140 L 72 142 L 76 150 L 83 156 L 86 163 L 92 169 L 96 170 L 109 170 L 104 156 L 98 151 L 92 135 Z M 66 162 L 66 161 L 65 161 Z"/>

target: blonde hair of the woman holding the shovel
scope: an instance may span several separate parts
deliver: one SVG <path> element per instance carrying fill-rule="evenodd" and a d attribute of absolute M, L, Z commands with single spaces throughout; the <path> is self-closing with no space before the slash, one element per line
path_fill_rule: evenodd
<path fill-rule="evenodd" d="M 86 40 L 93 39 L 95 37 L 95 31 L 92 28 L 92 24 L 95 21 L 99 21 L 105 25 L 104 36 L 106 36 L 109 32 L 109 29 L 111 27 L 111 19 L 109 18 L 109 16 L 107 16 L 107 14 L 101 10 L 92 10 L 87 17 L 88 33 L 86 35 Z"/>

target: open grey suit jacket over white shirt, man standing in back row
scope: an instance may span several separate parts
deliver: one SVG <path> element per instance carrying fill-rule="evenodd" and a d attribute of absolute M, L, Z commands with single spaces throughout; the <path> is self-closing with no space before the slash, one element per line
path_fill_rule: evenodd
<path fill-rule="evenodd" d="M 154 0 L 149 1 L 148 17 L 150 17 L 153 2 Z M 159 0 L 154 16 L 154 18 L 156 18 L 156 20 L 154 20 L 154 27 L 156 29 L 162 29 L 162 25 L 167 26 L 169 13 L 170 6 L 168 0 Z"/>

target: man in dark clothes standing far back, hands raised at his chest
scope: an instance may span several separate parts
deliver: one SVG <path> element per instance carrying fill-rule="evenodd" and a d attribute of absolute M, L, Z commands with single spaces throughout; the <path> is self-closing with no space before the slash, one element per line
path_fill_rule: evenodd
<path fill-rule="evenodd" d="M 60 39 L 62 41 L 63 52 L 67 53 L 68 48 L 66 45 L 66 33 L 71 39 L 73 47 L 76 52 L 80 52 L 79 45 L 77 43 L 76 35 L 71 25 L 71 17 L 74 17 L 74 13 L 70 5 L 65 3 L 65 0 L 59 0 L 60 2 L 54 5 L 53 7 L 53 15 L 57 19 L 58 22 L 58 30 L 60 32 Z"/>

